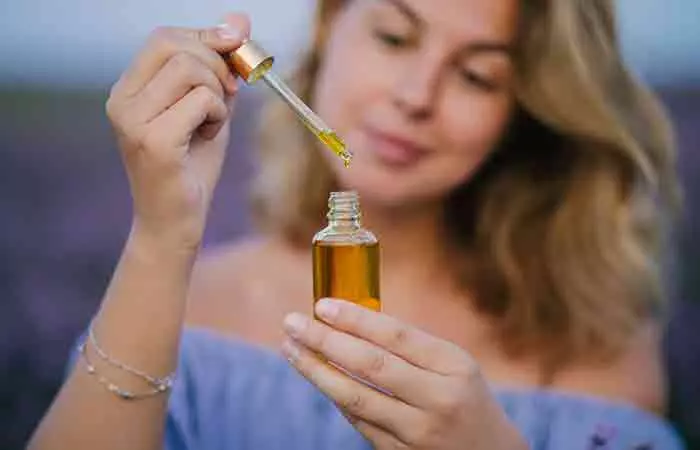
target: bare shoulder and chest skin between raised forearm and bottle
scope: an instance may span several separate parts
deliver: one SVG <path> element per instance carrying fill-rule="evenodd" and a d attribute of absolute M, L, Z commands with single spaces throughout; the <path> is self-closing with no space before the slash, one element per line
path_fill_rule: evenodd
<path fill-rule="evenodd" d="M 186 323 L 276 346 L 284 315 L 304 298 L 297 259 L 303 255 L 267 238 L 204 252 L 193 271 Z"/>

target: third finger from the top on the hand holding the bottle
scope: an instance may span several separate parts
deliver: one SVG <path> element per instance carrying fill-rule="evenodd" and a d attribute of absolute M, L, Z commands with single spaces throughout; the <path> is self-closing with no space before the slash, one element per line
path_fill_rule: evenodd
<path fill-rule="evenodd" d="M 291 340 L 282 352 L 294 367 L 349 416 L 379 427 L 401 439 L 411 424 L 419 424 L 421 412 L 384 395 L 321 362 L 308 348 Z"/>

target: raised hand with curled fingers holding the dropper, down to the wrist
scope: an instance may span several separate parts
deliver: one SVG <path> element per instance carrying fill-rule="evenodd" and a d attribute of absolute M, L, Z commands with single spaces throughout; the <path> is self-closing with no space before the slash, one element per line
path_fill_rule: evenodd
<path fill-rule="evenodd" d="M 131 186 L 132 233 L 199 246 L 237 91 L 221 55 L 249 34 L 236 14 L 209 29 L 159 28 L 112 88 L 107 115 Z"/>

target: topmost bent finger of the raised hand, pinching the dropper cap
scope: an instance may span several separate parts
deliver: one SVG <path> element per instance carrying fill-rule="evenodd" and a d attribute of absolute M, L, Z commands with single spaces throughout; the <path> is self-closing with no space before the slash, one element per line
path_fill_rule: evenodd
<path fill-rule="evenodd" d="M 235 77 L 219 53 L 238 48 L 250 34 L 250 23 L 242 15 L 229 15 L 218 27 L 188 29 L 161 27 L 155 30 L 146 47 L 115 85 L 115 90 L 131 97 L 178 53 L 188 53 L 202 61 L 229 92 L 235 89 Z"/>

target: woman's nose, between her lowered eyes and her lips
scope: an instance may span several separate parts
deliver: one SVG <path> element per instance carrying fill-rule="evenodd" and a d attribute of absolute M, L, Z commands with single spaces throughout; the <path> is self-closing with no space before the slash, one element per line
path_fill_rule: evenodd
<path fill-rule="evenodd" d="M 429 117 L 435 108 L 440 64 L 429 57 L 415 58 L 394 84 L 394 104 L 412 118 Z"/>

